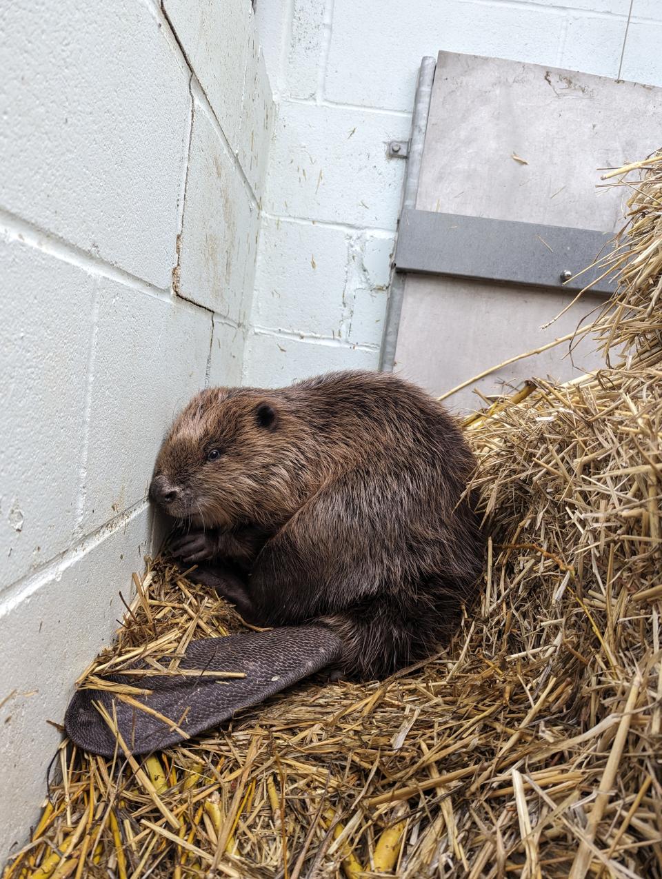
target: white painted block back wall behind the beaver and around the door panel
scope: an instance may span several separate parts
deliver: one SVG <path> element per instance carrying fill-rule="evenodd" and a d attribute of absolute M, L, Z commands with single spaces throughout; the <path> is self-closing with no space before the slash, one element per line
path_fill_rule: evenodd
<path fill-rule="evenodd" d="M 244 379 L 377 367 L 418 65 L 440 49 L 662 85 L 662 0 L 258 0 L 277 98 Z M 449 120 L 462 124 L 462 120 Z M 658 144 L 651 144 L 651 149 Z M 632 156 L 622 156 L 624 161 Z"/>

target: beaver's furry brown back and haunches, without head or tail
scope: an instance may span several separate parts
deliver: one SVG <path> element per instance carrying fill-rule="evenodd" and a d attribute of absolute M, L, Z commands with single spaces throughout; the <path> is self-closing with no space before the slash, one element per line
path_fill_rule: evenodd
<path fill-rule="evenodd" d="M 388 374 L 324 375 L 279 395 L 329 469 L 256 560 L 251 583 L 265 614 L 323 617 L 354 645 L 346 671 L 362 677 L 434 650 L 483 559 L 461 499 L 473 458 L 459 427 Z"/>

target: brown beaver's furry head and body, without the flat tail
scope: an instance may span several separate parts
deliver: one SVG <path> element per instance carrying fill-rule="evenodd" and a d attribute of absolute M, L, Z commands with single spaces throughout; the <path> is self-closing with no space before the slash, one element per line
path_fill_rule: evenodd
<path fill-rule="evenodd" d="M 315 622 L 337 673 L 383 678 L 456 627 L 484 539 L 454 418 L 393 374 L 200 391 L 156 458 L 149 496 L 186 527 L 193 579 L 257 626 Z"/>

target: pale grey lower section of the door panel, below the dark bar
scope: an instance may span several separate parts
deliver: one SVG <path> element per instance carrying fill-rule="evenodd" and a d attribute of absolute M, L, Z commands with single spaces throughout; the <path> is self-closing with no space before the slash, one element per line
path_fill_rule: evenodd
<path fill-rule="evenodd" d="M 571 296 L 552 295 L 550 299 L 521 287 L 495 288 L 477 281 L 411 275 L 404 291 L 395 371 L 439 396 L 513 354 L 571 333 L 587 311 L 604 302 L 601 296 L 585 294 L 549 330 L 542 331 L 541 323 L 554 316 L 549 311 L 551 300 L 561 309 Z M 572 358 L 569 347 L 568 343 L 558 345 L 501 368 L 450 397 L 447 405 L 465 413 L 482 405 L 474 387 L 490 395 L 502 392 L 504 385 L 506 389 L 518 386 L 532 375 L 571 378 L 598 364 L 592 340 L 573 347 Z"/>

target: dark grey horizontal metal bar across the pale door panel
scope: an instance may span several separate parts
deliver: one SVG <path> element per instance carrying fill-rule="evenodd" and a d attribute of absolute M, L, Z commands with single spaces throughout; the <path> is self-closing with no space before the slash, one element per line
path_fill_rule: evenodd
<path fill-rule="evenodd" d="M 591 265 L 610 237 L 591 229 L 404 207 L 397 234 L 396 270 L 578 291 L 602 272 L 593 268 L 577 278 L 571 275 Z M 610 295 L 614 281 L 604 278 L 592 290 Z"/>

